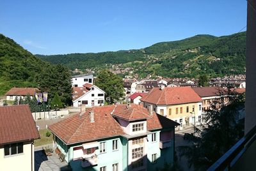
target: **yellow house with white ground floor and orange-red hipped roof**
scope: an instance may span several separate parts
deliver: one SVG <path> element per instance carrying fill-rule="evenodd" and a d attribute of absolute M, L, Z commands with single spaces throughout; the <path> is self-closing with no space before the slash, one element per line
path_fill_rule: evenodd
<path fill-rule="evenodd" d="M 180 123 L 180 130 L 202 122 L 203 100 L 191 87 L 154 88 L 140 100 L 145 108 Z"/>

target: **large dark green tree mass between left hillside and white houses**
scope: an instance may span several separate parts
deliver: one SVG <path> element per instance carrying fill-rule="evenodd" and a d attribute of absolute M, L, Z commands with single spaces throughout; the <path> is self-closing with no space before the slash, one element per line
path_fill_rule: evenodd
<path fill-rule="evenodd" d="M 49 99 L 53 99 L 57 93 L 62 103 L 72 104 L 71 75 L 67 67 L 61 64 L 49 66 L 37 75 L 36 80 L 41 91 L 49 93 Z"/>

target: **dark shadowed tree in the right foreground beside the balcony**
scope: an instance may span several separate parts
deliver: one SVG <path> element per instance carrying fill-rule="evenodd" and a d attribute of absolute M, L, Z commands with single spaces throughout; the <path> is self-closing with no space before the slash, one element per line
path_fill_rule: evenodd
<path fill-rule="evenodd" d="M 228 93 L 228 103 L 225 102 Z M 219 108 L 220 107 L 220 108 Z M 221 100 L 211 103 L 203 117 L 204 123 L 196 128 L 198 136 L 191 135 L 191 146 L 179 147 L 180 155 L 188 158 L 189 167 L 207 170 L 244 135 L 244 121 L 238 120 L 239 111 L 244 108 L 244 96 L 232 91 L 221 94 Z"/>

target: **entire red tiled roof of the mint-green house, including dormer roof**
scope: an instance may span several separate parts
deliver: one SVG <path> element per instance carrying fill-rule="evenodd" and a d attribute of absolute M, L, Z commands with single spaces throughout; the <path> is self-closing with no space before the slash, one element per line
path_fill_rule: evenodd
<path fill-rule="evenodd" d="M 94 113 L 94 123 L 90 123 L 89 117 L 89 113 L 92 110 Z M 125 114 L 127 116 L 125 116 Z M 126 105 L 109 105 L 89 108 L 82 115 L 73 115 L 63 121 L 50 125 L 49 130 L 61 138 L 65 144 L 90 142 L 101 138 L 125 135 L 120 124 L 118 124 L 113 116 L 122 116 L 123 119 L 124 117 L 131 117 L 132 119 L 134 117 L 137 119 L 147 119 L 148 130 L 172 128 L 179 125 L 162 115 L 158 115 L 156 113 L 150 115 L 146 108 L 132 104 L 130 108 L 127 108 Z"/>

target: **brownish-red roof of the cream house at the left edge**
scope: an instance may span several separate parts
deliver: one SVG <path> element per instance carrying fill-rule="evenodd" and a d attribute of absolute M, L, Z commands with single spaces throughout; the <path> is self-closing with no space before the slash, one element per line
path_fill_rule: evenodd
<path fill-rule="evenodd" d="M 40 138 L 28 105 L 0 107 L 0 144 Z"/>

